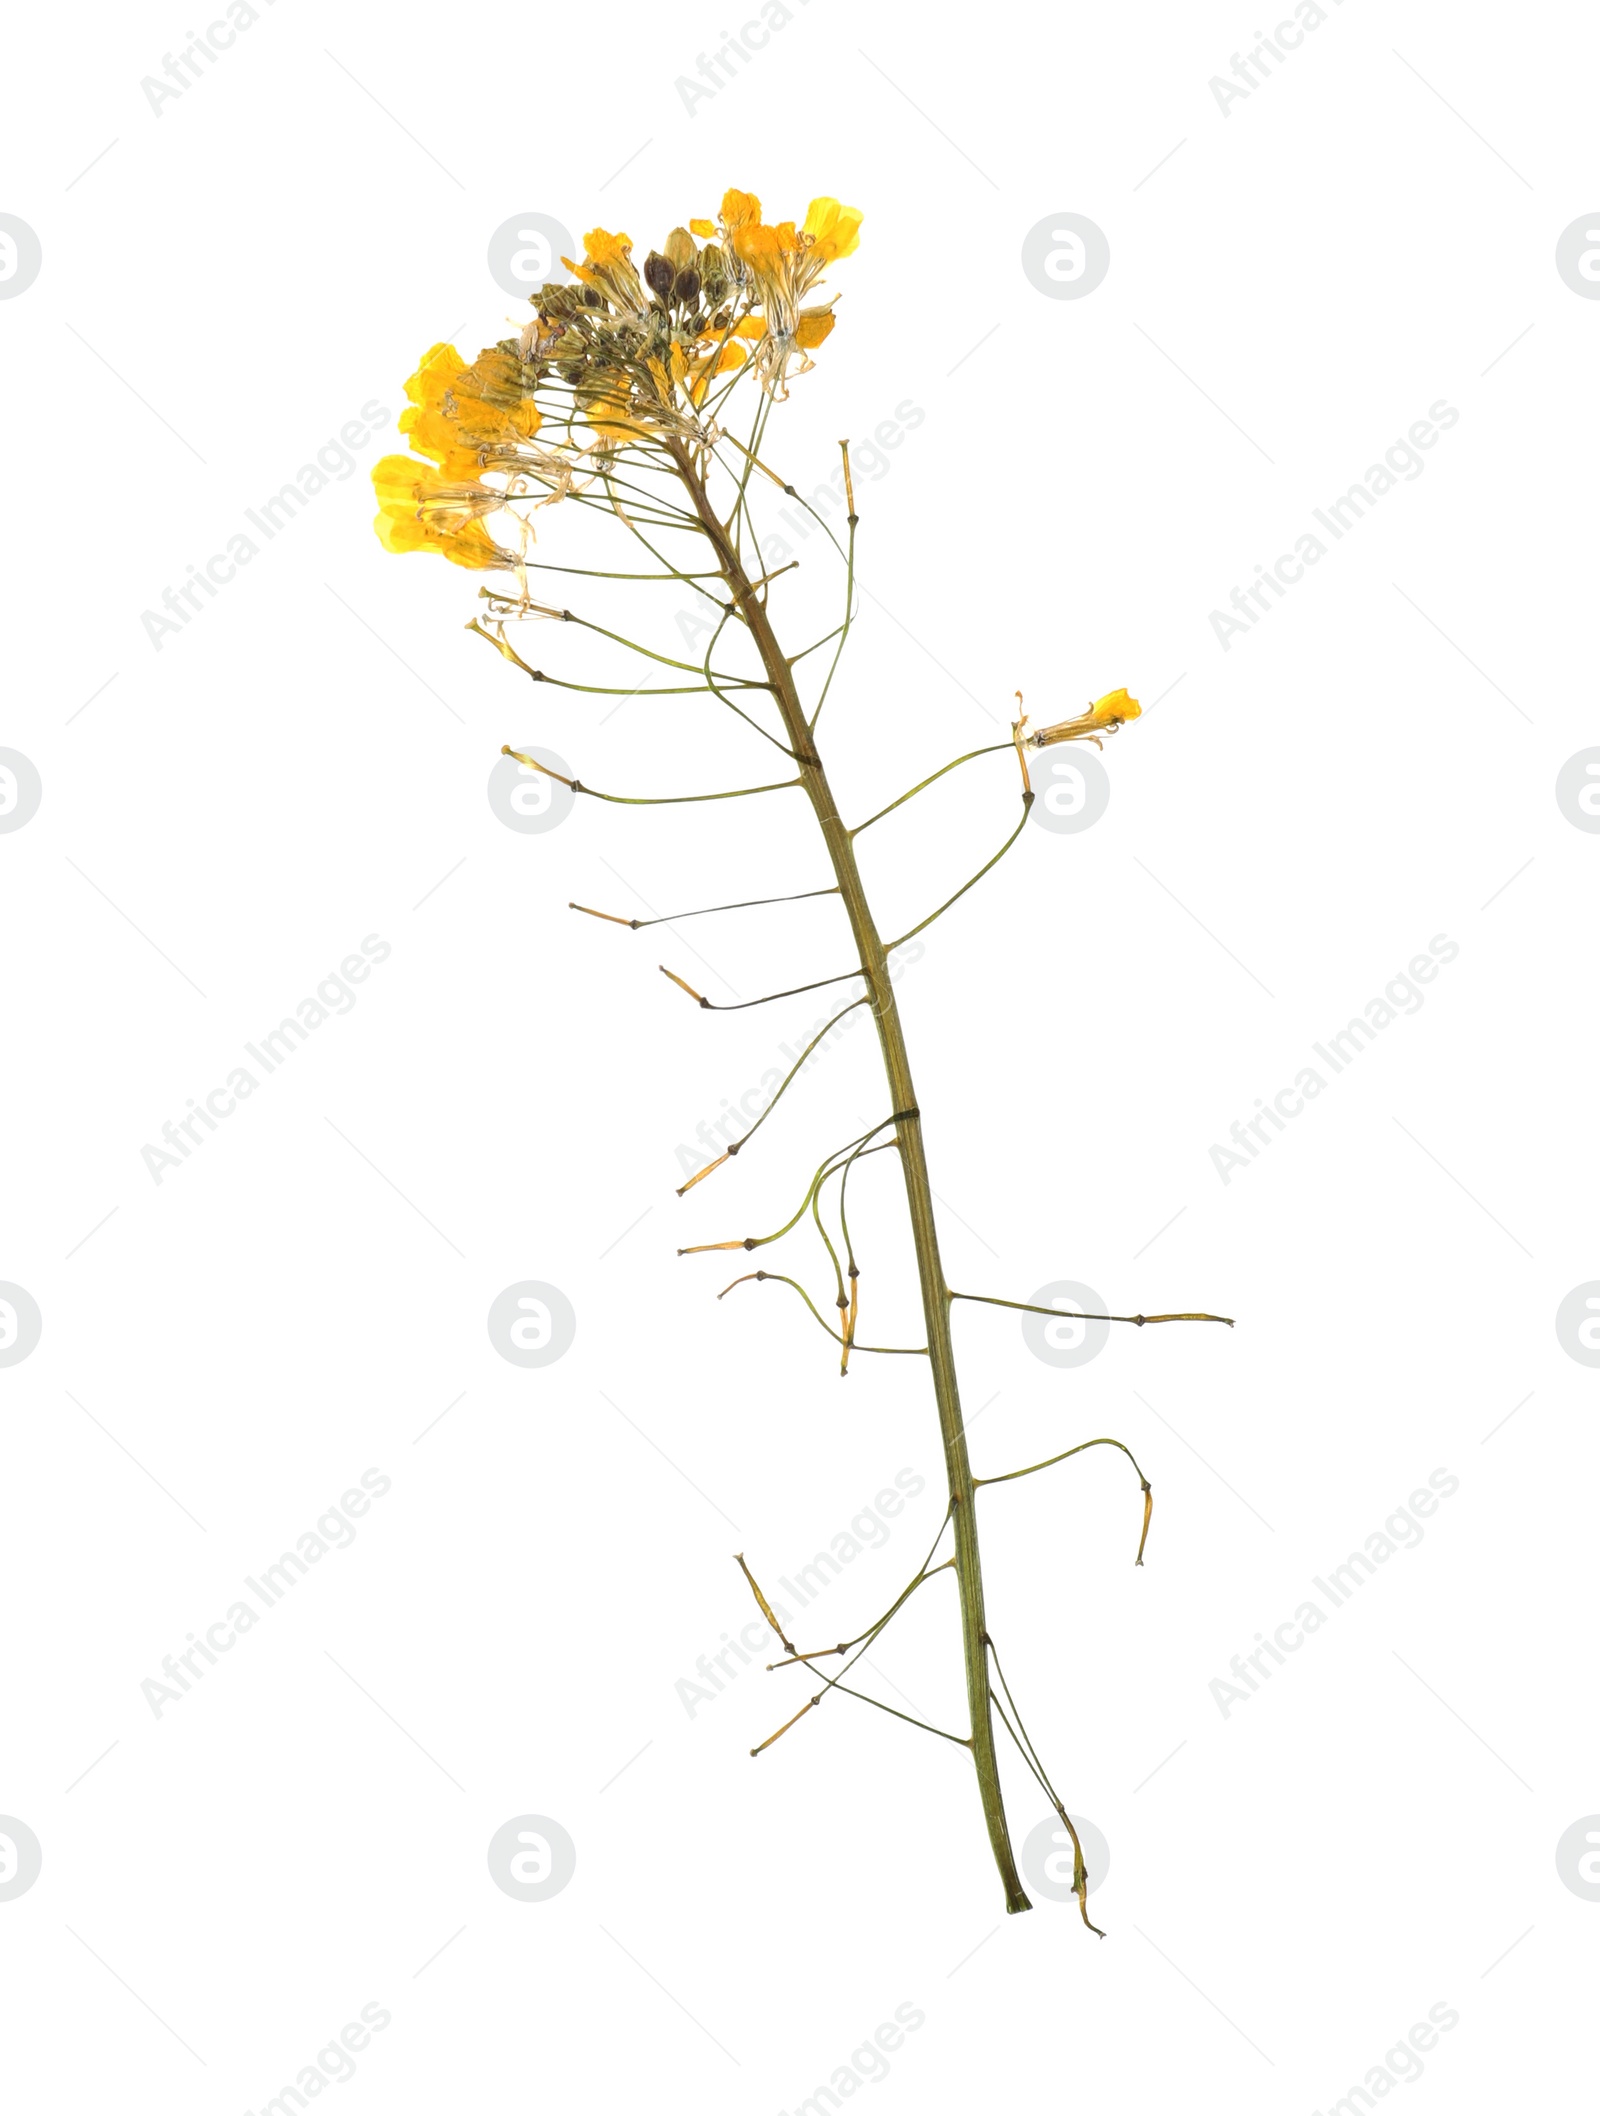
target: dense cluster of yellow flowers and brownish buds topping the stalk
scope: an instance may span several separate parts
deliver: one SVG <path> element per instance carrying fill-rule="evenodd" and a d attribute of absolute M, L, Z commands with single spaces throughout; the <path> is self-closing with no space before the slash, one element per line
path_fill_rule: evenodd
<path fill-rule="evenodd" d="M 415 453 L 372 472 L 383 544 L 514 569 L 531 525 L 512 512 L 521 544 L 508 550 L 485 516 L 563 499 L 626 446 L 711 446 L 739 370 L 781 398 L 789 372 L 811 368 L 834 309 L 806 296 L 859 226 L 838 199 L 813 199 L 800 226 L 768 226 L 760 199 L 728 190 L 717 222 L 673 229 L 643 269 L 631 237 L 590 229 L 582 260 L 561 260 L 574 279 L 540 288 L 519 339 L 470 366 L 453 345 L 423 353 L 400 417 Z"/>

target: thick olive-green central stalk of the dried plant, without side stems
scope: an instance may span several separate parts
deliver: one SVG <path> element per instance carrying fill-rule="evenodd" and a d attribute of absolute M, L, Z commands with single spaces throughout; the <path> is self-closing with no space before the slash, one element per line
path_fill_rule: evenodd
<path fill-rule="evenodd" d="M 855 844 L 838 817 L 828 774 L 823 772 L 817 745 L 806 724 L 794 671 L 772 635 L 766 609 L 751 590 L 749 576 L 734 550 L 728 529 L 720 521 L 703 480 L 677 444 L 671 444 L 673 461 L 684 487 L 694 504 L 694 512 L 705 529 L 717 565 L 728 582 L 728 590 L 741 609 L 756 650 L 762 658 L 766 679 L 772 686 L 783 730 L 794 751 L 806 798 L 817 815 L 817 823 L 834 868 L 834 880 L 851 920 L 855 950 L 861 963 L 868 992 L 872 997 L 872 1018 L 878 1024 L 878 1050 L 889 1079 L 889 1107 L 899 1111 L 895 1126 L 899 1138 L 899 1166 L 906 1179 L 906 1206 L 910 1208 L 912 1244 L 916 1248 L 916 1278 L 923 1293 L 923 1320 L 927 1325 L 927 1361 L 933 1373 L 933 1401 L 940 1413 L 940 1437 L 944 1441 L 944 1473 L 950 1488 L 950 1521 L 954 1528 L 954 1574 L 961 1595 L 961 1655 L 967 1672 L 967 1714 L 971 1722 L 969 1748 L 978 1769 L 978 1792 L 984 1805 L 984 1826 L 995 1854 L 1001 1881 L 1005 1885 L 1005 1909 L 1029 1911 L 1022 1881 L 1012 1854 L 1012 1837 L 1005 1826 L 1005 1803 L 1001 1799 L 999 1761 L 995 1756 L 995 1716 L 988 1693 L 988 1634 L 984 1627 L 984 1574 L 978 1562 L 978 1517 L 971 1466 L 967 1462 L 967 1433 L 961 1422 L 961 1388 L 957 1384 L 954 1346 L 950 1342 L 950 1289 L 944 1282 L 940 1263 L 940 1234 L 933 1221 L 933 1191 L 927 1179 L 927 1153 L 923 1147 L 923 1119 L 916 1107 L 910 1058 L 906 1054 L 906 1033 L 895 1005 L 895 988 L 889 980 L 889 959 L 878 933 L 872 908 L 861 884 L 861 870 L 855 863 Z"/>

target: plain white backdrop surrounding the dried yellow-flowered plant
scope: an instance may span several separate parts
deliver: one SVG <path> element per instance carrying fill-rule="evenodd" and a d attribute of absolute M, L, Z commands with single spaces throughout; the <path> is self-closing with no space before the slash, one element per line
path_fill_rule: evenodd
<path fill-rule="evenodd" d="M 44 789 L 0 838 L 0 1278 L 44 1318 L 0 1371 L 0 1811 L 44 1854 L 0 1902 L 19 2108 L 260 2110 L 370 2002 L 389 2025 L 324 2093 L 385 2112 L 796 2110 L 902 2004 L 874 2105 L 1325 2110 L 1439 2002 L 1403 2101 L 1583 2091 L 1600 1904 L 1556 1843 L 1600 1809 L 1596 1375 L 1553 1316 L 1598 1272 L 1600 840 L 1553 783 L 1600 741 L 1600 305 L 1553 248 L 1596 207 L 1600 40 L 1579 8 L 1350 0 L 1223 114 L 1208 80 L 1263 25 L 811 0 L 690 114 L 715 11 L 284 0 L 157 114 L 190 17 L 13 23 L 0 209 L 44 258 L 0 303 L 0 743 Z M 1143 1570 L 1109 1449 L 984 1500 L 1007 1672 L 1111 1845 L 1107 1940 L 1073 1904 L 1003 1917 L 946 1744 L 830 1699 L 751 1763 L 806 1695 L 760 1665 L 686 1710 L 753 1617 L 732 1551 L 770 1589 L 927 1479 L 821 1644 L 940 1515 L 916 1363 L 840 1384 L 792 1295 L 717 1306 L 734 1259 L 673 1255 L 777 1225 L 883 1088 L 849 1039 L 679 1204 L 677 1147 L 817 1007 L 696 1014 L 654 965 L 753 997 L 844 967 L 842 920 L 571 916 L 819 887 L 819 846 L 789 796 L 506 829 L 502 741 L 622 791 L 766 751 L 696 700 L 529 692 L 461 633 L 478 582 L 370 533 L 417 355 L 506 334 L 497 226 L 643 254 L 726 184 L 866 212 L 779 468 L 817 485 L 840 434 L 925 415 L 859 489 L 821 726 L 847 813 L 993 741 L 1018 688 L 1035 719 L 1147 705 L 1105 819 L 1026 829 L 902 982 L 952 1280 L 1238 1318 L 1062 1373 L 957 1312 L 980 1473 L 1111 1433 L 1156 1485 Z M 1060 212 L 1111 245 L 1081 300 L 1020 267 Z M 1424 472 L 1223 652 L 1211 612 L 1437 400 Z M 356 470 L 157 650 L 142 612 L 370 402 Z M 550 512 L 542 554 L 590 535 Z M 772 609 L 800 643 L 834 599 L 811 550 Z M 863 840 L 887 929 L 999 844 L 1012 772 Z M 154 1183 L 146 1143 L 370 933 L 353 1011 Z M 1420 1011 L 1223 1183 L 1213 1145 L 1433 935 L 1458 956 Z M 914 1342 L 874 1166 L 863 1335 Z M 485 1329 L 527 1278 L 578 1316 L 540 1371 Z M 392 1490 L 356 1543 L 157 1718 L 163 1655 L 366 1469 Z M 1420 1547 L 1223 1716 L 1230 1657 L 1439 1469 Z M 948 1583 L 919 1604 L 874 1686 L 959 1725 Z M 548 1902 L 487 1871 L 525 1813 L 578 1847 Z"/>

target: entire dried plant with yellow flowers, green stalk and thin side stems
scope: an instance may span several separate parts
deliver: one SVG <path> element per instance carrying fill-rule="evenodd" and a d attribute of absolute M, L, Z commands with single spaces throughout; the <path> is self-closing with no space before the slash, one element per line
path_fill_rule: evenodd
<path fill-rule="evenodd" d="M 950 910 L 1016 844 L 1033 802 L 1029 755 L 1056 743 L 1101 747 L 1105 736 L 1139 717 L 1139 703 L 1126 690 L 1115 690 L 1088 711 L 1035 732 L 1029 732 L 1026 715 L 1018 711 L 1010 741 L 954 758 L 861 823 L 847 825 L 840 819 L 823 770 L 817 724 L 855 618 L 857 512 L 851 455 L 849 444 L 840 442 L 847 510 L 844 540 L 840 542 L 830 521 L 779 470 L 770 468 L 768 421 L 775 408 L 785 402 L 789 381 L 813 366 L 811 353 L 834 328 L 836 296 L 828 303 L 808 296 L 819 290 L 819 281 L 838 260 L 855 252 L 859 224 L 861 216 L 836 199 L 813 199 L 800 226 L 792 220 L 768 224 L 762 220 L 756 197 L 730 190 L 717 220 L 690 220 L 686 229 L 673 229 L 662 248 L 646 256 L 643 267 L 635 264 L 626 235 L 595 229 L 584 237 L 582 260 L 563 258 L 574 275 L 571 281 L 540 288 L 533 296 L 533 315 L 519 336 L 480 351 L 474 362 L 461 360 L 449 345 L 436 345 L 423 355 L 421 366 L 406 383 L 411 402 L 400 421 L 415 453 L 385 457 L 372 474 L 381 499 L 377 527 L 389 550 L 436 550 L 455 565 L 495 576 L 493 584 L 480 588 L 483 612 L 468 628 L 495 645 L 533 683 L 605 696 L 701 692 L 734 713 L 743 722 L 747 738 L 762 741 L 783 760 L 783 777 L 758 785 L 671 796 L 601 791 L 578 777 L 554 772 L 525 751 L 508 749 L 506 753 L 519 758 L 527 770 L 561 779 L 576 796 L 624 806 L 783 798 L 787 794 L 798 794 L 808 802 L 832 882 L 798 895 L 838 897 L 855 965 L 836 978 L 770 992 L 766 999 L 739 1001 L 739 1007 L 766 1005 L 772 999 L 789 999 L 796 992 L 823 986 L 859 986 L 859 990 L 847 997 L 840 1011 L 800 1052 L 749 1130 L 734 1138 L 720 1160 L 692 1174 L 684 1191 L 694 1189 L 751 1143 L 787 1094 L 806 1058 L 855 1007 L 870 1009 L 876 1026 L 887 1109 L 868 1132 L 836 1147 L 821 1162 L 783 1227 L 762 1236 L 692 1244 L 679 1255 L 766 1248 L 798 1227 L 802 1219 L 808 1219 L 828 1253 L 836 1322 L 825 1320 L 811 1293 L 794 1276 L 756 1270 L 732 1284 L 758 1280 L 792 1289 L 838 1346 L 840 1373 L 849 1371 L 851 1354 L 927 1361 L 944 1445 L 948 1504 L 933 1547 L 904 1593 L 857 1638 L 840 1644 L 811 1650 L 794 1646 L 783 1636 L 779 1617 L 756 1576 L 739 1557 L 762 1615 L 775 1636 L 783 1640 L 787 1659 L 775 1665 L 800 1665 L 821 1684 L 800 1705 L 800 1712 L 751 1754 L 760 1754 L 781 1733 L 787 1733 L 830 1691 L 861 1697 L 914 1727 L 957 1741 L 971 1752 L 984 1826 L 1005 1887 L 1005 1909 L 1026 1911 L 1029 1898 L 1016 1871 L 1001 1796 L 995 1725 L 999 1720 L 1071 1835 L 1073 1885 L 1084 1923 L 1090 1923 L 1088 1881 L 1077 1830 L 1029 1739 L 988 1629 L 978 1557 L 978 1492 L 990 1483 L 1031 1477 L 1088 1447 L 1120 1447 L 1132 1462 L 1143 1492 L 1143 1526 L 1134 1557 L 1134 1564 L 1143 1564 L 1151 1488 L 1132 1454 L 1115 1439 L 1079 1441 L 1043 1462 L 1007 1471 L 1003 1477 L 974 1477 L 971 1473 L 950 1335 L 954 1301 L 988 1301 L 1035 1314 L 1056 1314 L 1058 1310 L 1031 1308 L 1026 1301 L 984 1293 L 957 1293 L 946 1284 L 923 1145 L 923 1111 L 912 1083 L 889 959 L 895 948 Z M 777 559 L 775 540 L 770 525 L 762 527 L 760 521 L 766 487 L 781 491 L 789 510 L 800 508 L 811 516 L 815 529 L 823 531 L 825 542 L 832 544 L 842 569 L 844 605 L 838 622 L 821 639 L 796 652 L 779 643 L 772 603 L 775 588 L 798 561 L 770 563 Z M 535 557 L 542 546 L 535 546 L 533 516 L 557 501 L 567 508 L 599 510 L 610 521 L 616 540 L 626 544 L 633 565 L 641 565 L 643 571 L 614 573 Z M 550 601 L 542 582 L 546 573 L 590 576 L 607 582 L 671 582 L 679 590 L 692 592 L 707 607 L 711 620 L 705 626 L 711 637 L 703 660 L 696 664 L 684 660 L 681 654 L 648 647 L 576 614 L 565 601 Z M 643 656 L 671 681 L 646 681 L 626 690 L 546 673 L 512 645 L 512 626 L 533 622 L 580 626 L 590 635 L 603 635 L 626 652 Z M 724 662 L 741 662 L 743 669 L 724 667 Z M 857 840 L 866 829 L 944 779 L 946 772 L 995 751 L 1016 753 L 1020 770 L 1016 825 L 993 859 L 944 904 L 906 933 L 885 940 L 861 882 Z M 743 912 L 779 901 L 794 899 L 753 897 L 707 910 Z M 578 904 L 571 908 L 633 931 L 669 923 L 620 916 Z M 665 969 L 665 965 L 662 971 L 701 1007 L 717 1011 L 717 1003 L 696 992 L 675 971 Z M 844 995 L 840 992 L 840 997 Z M 927 1342 L 921 1346 L 874 1346 L 857 1339 L 859 1267 L 849 1232 L 847 1196 L 857 1162 L 883 1153 L 897 1157 L 904 1181 L 927 1333 Z M 834 1179 L 838 1179 L 836 1193 L 830 1189 Z M 732 1291 L 732 1287 L 724 1291 Z M 1132 1314 L 1092 1320 L 1143 1327 L 1149 1322 L 1228 1322 L 1230 1318 Z M 946 1547 L 946 1534 L 948 1555 L 940 1555 Z M 897 1712 L 883 1699 L 868 1697 L 844 1682 L 855 1659 L 868 1650 L 910 1598 L 946 1570 L 954 1576 L 961 1610 L 965 1733 L 948 1733 L 925 1720 L 912 1720 L 910 1714 Z M 825 1667 L 830 1659 L 842 1663 L 838 1672 Z"/>

